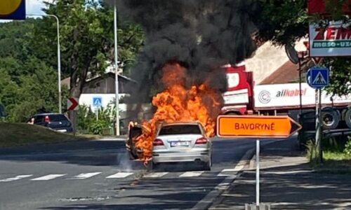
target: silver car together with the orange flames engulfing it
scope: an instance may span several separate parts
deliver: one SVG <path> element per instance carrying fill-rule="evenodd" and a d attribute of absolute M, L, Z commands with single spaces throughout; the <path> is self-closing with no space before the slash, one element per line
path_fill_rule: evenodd
<path fill-rule="evenodd" d="M 210 169 L 208 138 L 215 134 L 222 96 L 206 83 L 185 85 L 186 69 L 178 63 L 166 64 L 162 70 L 165 90 L 152 98 L 156 108 L 152 119 L 129 126 L 130 157 L 145 163 L 197 161 Z"/>

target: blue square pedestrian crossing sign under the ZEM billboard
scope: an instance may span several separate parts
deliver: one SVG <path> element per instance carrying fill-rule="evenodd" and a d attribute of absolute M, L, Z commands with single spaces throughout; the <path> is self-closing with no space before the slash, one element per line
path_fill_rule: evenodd
<path fill-rule="evenodd" d="M 313 67 L 307 71 L 307 83 L 314 89 L 321 89 L 329 85 L 329 69 Z"/>

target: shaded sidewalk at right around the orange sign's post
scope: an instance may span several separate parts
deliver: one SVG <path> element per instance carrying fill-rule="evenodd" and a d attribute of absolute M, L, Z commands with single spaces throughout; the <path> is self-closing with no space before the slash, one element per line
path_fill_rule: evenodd
<path fill-rule="evenodd" d="M 245 209 L 256 202 L 255 161 L 210 208 Z M 261 148 L 260 202 L 271 209 L 351 209 L 351 176 L 310 169 L 295 139 Z"/>

